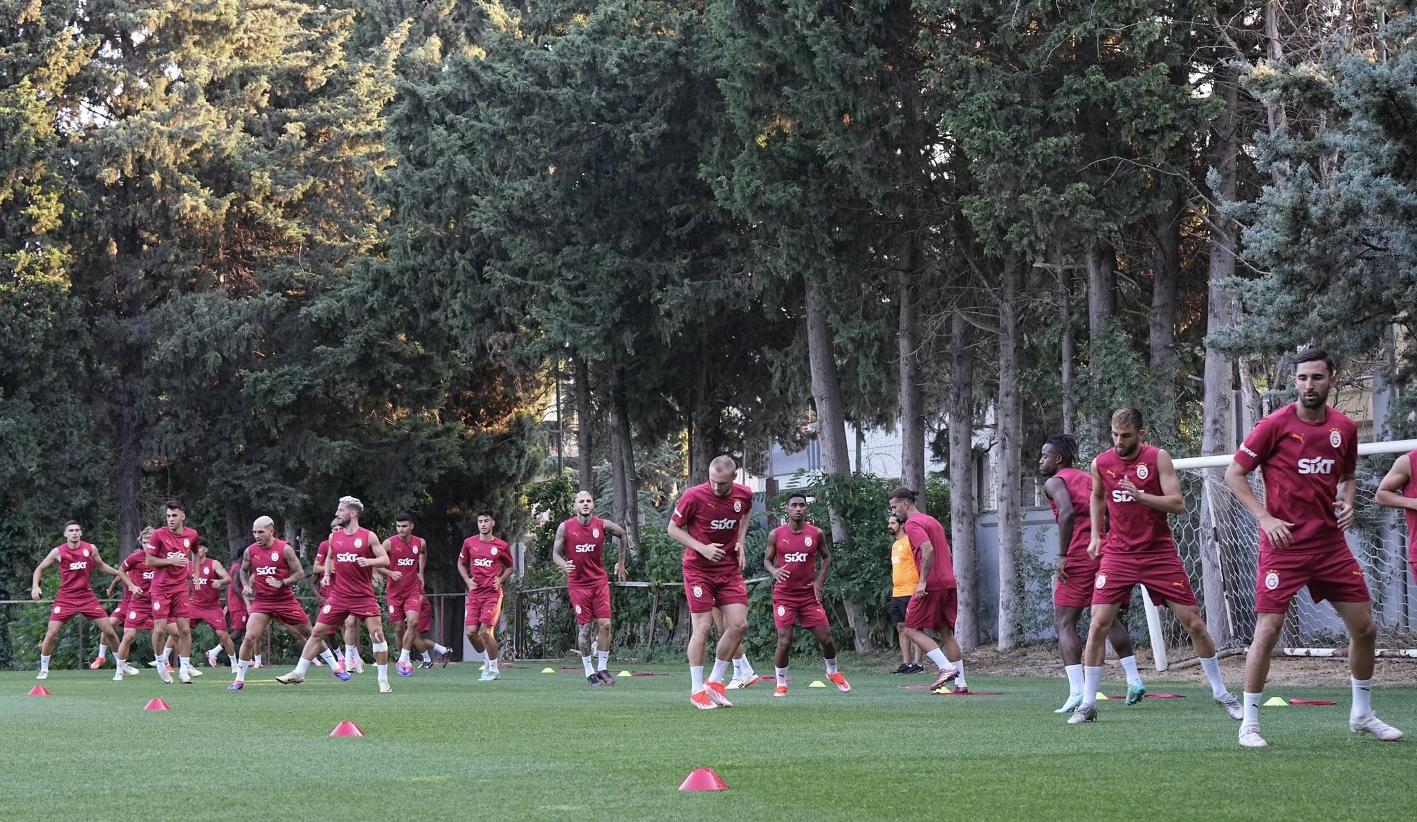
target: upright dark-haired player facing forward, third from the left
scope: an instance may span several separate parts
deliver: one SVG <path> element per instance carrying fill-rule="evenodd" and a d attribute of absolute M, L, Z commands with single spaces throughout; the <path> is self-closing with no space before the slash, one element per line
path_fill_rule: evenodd
<path fill-rule="evenodd" d="M 167 526 L 153 531 L 147 541 L 146 563 L 157 568 L 147 598 L 153 602 L 153 629 L 176 639 L 177 679 L 191 685 L 191 624 L 187 602 L 191 597 L 191 553 L 201 539 L 187 527 L 187 509 L 176 499 L 167 500 Z M 166 651 L 153 648 L 157 677 L 171 685 Z"/>

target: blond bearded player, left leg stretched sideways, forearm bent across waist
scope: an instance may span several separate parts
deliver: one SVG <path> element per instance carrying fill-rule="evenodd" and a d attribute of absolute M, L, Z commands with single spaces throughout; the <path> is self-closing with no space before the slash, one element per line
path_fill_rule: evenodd
<path fill-rule="evenodd" d="M 295 670 L 275 677 L 281 685 L 305 682 L 310 660 L 324 646 L 324 635 L 344 624 L 347 616 L 364 621 L 370 645 L 374 649 L 374 668 L 378 672 L 378 692 L 388 693 L 388 641 L 384 638 L 384 621 L 378 599 L 374 598 L 374 570 L 388 567 L 388 551 L 374 531 L 360 527 L 359 517 L 364 503 L 359 497 L 341 496 L 334 509 L 339 530 L 330 534 L 330 556 L 326 557 L 324 577 L 333 578 L 330 598 L 315 619 L 315 632 L 305 642 L 300 662 Z M 326 660 L 333 665 L 333 658 Z M 341 672 L 343 673 L 343 672 Z M 339 676 L 339 675 L 336 675 Z M 349 676 L 344 673 L 344 676 Z M 344 679 L 340 676 L 340 679 Z"/>

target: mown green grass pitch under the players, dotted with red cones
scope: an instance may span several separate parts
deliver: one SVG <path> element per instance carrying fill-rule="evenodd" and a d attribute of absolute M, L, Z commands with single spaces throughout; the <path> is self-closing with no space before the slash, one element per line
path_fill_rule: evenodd
<path fill-rule="evenodd" d="M 1272 748 L 1241 750 L 1234 720 L 1193 683 L 1186 699 L 1102 703 L 1081 727 L 1051 711 L 1061 679 L 973 676 L 1003 696 L 935 697 L 905 677 L 847 672 L 853 693 L 792 694 L 768 680 L 738 707 L 699 711 L 687 673 L 591 689 L 578 672 L 476 665 L 302 686 L 251 673 L 228 693 L 210 670 L 163 686 L 152 669 L 0 673 L 6 819 L 1410 819 L 1417 747 L 1348 731 L 1348 693 L 1277 689 L 1333 707 L 1263 709 Z M 915 676 L 911 682 L 924 682 Z M 1119 693 L 1114 686 L 1110 690 Z M 154 697 L 169 713 L 143 711 Z M 1379 687 L 1380 716 L 1417 730 L 1417 689 Z M 330 738 L 340 720 L 364 738 Z M 730 785 L 676 788 L 696 767 Z M 154 805 L 156 802 L 156 805 Z M 179 812 L 180 809 L 180 812 Z"/>

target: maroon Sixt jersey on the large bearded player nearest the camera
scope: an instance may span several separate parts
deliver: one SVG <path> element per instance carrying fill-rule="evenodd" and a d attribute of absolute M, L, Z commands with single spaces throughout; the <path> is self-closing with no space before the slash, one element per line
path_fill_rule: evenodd
<path fill-rule="evenodd" d="M 1346 551 L 1333 502 L 1338 482 L 1357 468 L 1357 424 L 1336 408 L 1323 410 L 1322 422 L 1305 422 L 1294 404 L 1261 420 L 1244 438 L 1236 462 L 1261 469 L 1264 510 L 1294 523 L 1285 551 Z M 1260 547 L 1271 550 L 1260 531 Z"/>

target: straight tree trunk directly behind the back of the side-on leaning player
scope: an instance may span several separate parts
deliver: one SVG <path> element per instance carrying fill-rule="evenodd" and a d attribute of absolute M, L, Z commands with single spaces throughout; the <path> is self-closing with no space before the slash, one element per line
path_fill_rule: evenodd
<path fill-rule="evenodd" d="M 979 645 L 975 580 L 973 350 L 965 308 L 949 315 L 949 543 L 959 581 L 955 638 L 965 651 Z"/>

